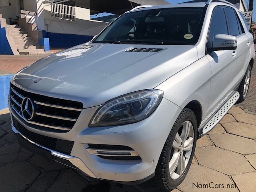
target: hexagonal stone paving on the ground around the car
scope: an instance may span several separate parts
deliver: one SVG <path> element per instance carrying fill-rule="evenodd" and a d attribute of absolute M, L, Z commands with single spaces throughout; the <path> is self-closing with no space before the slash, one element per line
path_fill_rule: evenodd
<path fill-rule="evenodd" d="M 161 191 L 150 182 L 126 186 L 86 180 L 62 164 L 31 154 L 20 147 L 12 133 L 8 110 L 0 111 L 0 178 L 3 192 Z M 234 106 L 208 135 L 197 141 L 188 175 L 172 192 L 255 191 L 256 115 Z"/>

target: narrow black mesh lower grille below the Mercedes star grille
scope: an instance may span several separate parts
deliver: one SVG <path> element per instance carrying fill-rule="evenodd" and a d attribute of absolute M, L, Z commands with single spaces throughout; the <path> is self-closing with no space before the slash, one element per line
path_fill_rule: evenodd
<path fill-rule="evenodd" d="M 66 141 L 66 140 L 51 138 L 48 136 L 31 132 L 27 130 L 24 126 L 22 126 L 22 124 L 20 124 L 18 120 L 16 120 L 15 118 L 13 118 L 13 124 L 16 130 L 18 130 L 18 132 L 20 132 L 23 136 L 25 136 L 29 140 L 41 146 L 44 146 L 48 149 L 70 155 L 74 145 L 74 141 Z"/>

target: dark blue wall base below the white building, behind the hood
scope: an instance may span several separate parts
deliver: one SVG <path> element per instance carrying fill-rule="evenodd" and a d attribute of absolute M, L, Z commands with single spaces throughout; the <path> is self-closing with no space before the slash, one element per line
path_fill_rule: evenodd
<path fill-rule="evenodd" d="M 43 38 L 49 38 L 50 48 L 69 48 L 92 40 L 93 36 L 50 33 L 43 31 Z"/>

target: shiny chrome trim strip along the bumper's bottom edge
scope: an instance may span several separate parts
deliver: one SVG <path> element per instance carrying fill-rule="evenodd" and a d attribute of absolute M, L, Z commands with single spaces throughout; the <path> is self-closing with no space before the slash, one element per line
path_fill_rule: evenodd
<path fill-rule="evenodd" d="M 73 164 L 77 169 L 81 170 L 82 172 L 84 172 L 85 174 L 87 174 L 88 176 L 92 177 L 92 178 L 96 178 L 96 176 L 88 169 L 88 167 L 82 162 L 82 160 L 80 160 L 80 158 L 78 157 L 74 157 L 74 156 L 70 156 L 70 155 L 66 155 L 54 150 L 50 150 L 44 146 L 41 146 L 33 141 L 31 141 L 30 139 L 26 138 L 24 135 L 22 135 L 13 125 L 12 125 L 12 130 L 14 131 L 15 134 L 20 134 L 20 136 L 22 136 L 24 139 L 26 139 L 28 142 L 30 142 L 31 144 L 34 144 L 38 147 L 41 147 L 45 150 L 48 150 L 51 152 L 51 154 L 53 156 L 56 156 L 58 158 L 62 158 L 64 160 L 68 160 L 71 164 Z"/>

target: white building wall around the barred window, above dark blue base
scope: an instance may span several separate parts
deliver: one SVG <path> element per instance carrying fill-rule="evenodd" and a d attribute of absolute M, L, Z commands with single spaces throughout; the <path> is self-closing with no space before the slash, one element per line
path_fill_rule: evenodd
<path fill-rule="evenodd" d="M 76 7 L 74 21 L 52 18 L 50 4 L 44 4 L 45 30 L 52 33 L 94 36 L 108 23 L 90 20 L 90 10 Z"/>

